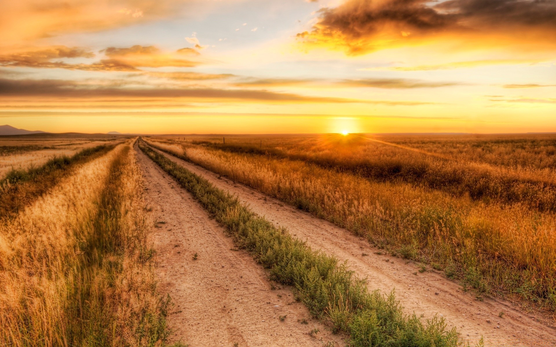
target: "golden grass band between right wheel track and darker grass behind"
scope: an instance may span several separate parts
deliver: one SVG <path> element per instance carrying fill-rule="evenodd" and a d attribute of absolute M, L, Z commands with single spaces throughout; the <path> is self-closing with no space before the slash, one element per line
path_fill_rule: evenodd
<path fill-rule="evenodd" d="M 374 182 L 300 160 L 199 145 L 156 147 L 446 269 L 466 285 L 556 309 L 556 218 L 527 204 L 485 204 L 402 182 Z"/>

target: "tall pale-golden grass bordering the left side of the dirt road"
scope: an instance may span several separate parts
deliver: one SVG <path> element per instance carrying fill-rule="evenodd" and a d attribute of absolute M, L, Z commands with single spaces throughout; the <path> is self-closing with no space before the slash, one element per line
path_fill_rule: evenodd
<path fill-rule="evenodd" d="M 0 226 L 0 345 L 163 345 L 134 153 L 82 165 Z"/>

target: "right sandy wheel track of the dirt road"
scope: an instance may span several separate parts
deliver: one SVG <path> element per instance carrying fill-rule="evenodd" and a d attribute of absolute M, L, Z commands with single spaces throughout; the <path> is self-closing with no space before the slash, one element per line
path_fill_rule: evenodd
<path fill-rule="evenodd" d="M 395 288 L 396 298 L 408 313 L 423 314 L 425 319 L 435 314 L 445 318 L 449 326 L 458 328 L 461 337 L 472 345 L 484 336 L 485 345 L 493 347 L 556 346 L 556 329 L 550 326 L 554 321 L 546 317 L 527 313 L 500 299 L 477 300 L 476 294 L 465 293 L 458 283 L 446 279 L 441 273 L 434 270 L 419 273 L 417 264 L 376 254 L 379 249 L 370 247 L 365 239 L 355 237 L 345 229 L 198 165 L 163 154 L 202 175 L 216 187 L 237 194 L 241 202 L 249 204 L 255 213 L 288 228 L 292 235 L 306 240 L 312 248 L 334 254 L 340 261 L 347 260 L 356 274 L 368 278 L 369 289 L 389 292 Z M 504 312 L 502 318 L 500 312 Z"/>

